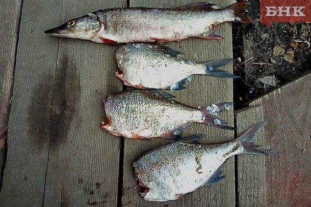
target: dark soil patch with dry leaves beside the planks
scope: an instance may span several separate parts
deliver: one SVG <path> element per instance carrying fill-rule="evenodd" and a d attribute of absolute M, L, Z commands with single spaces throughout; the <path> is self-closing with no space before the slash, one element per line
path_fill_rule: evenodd
<path fill-rule="evenodd" d="M 260 1 L 250 1 L 249 15 L 253 23 L 233 24 L 234 73 L 242 78 L 234 80 L 235 109 L 244 107 L 276 87 L 287 84 L 311 71 L 310 23 L 272 23 L 271 28 L 260 23 Z M 307 41 L 307 42 L 305 42 Z M 273 55 L 280 46 L 284 52 L 293 51 L 294 63 L 283 54 Z M 286 55 L 285 55 L 286 56 Z M 277 85 L 258 86 L 258 78 L 274 76 Z"/>

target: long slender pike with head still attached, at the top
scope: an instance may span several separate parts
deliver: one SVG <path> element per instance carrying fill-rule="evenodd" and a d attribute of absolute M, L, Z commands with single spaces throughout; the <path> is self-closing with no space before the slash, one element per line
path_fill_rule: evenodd
<path fill-rule="evenodd" d="M 212 26 L 252 22 L 244 13 L 248 2 L 218 9 L 213 3 L 177 8 L 111 8 L 98 10 L 45 31 L 45 34 L 98 43 L 170 42 L 189 37 L 220 39 Z"/>

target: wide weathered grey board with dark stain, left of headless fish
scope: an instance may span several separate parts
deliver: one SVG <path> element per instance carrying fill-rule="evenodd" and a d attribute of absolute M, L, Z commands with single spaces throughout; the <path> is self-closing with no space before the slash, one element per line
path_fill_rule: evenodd
<path fill-rule="evenodd" d="M 122 90 L 114 46 L 45 29 L 124 1 L 24 1 L 0 206 L 117 203 L 119 138 L 102 132 L 102 101 Z"/>

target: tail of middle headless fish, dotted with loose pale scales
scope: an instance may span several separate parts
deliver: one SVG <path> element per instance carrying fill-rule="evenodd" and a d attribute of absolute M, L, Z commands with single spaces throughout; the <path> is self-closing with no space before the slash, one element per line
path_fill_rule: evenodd
<path fill-rule="evenodd" d="M 221 120 L 217 119 L 216 116 L 218 116 L 218 113 L 221 112 L 221 110 L 229 110 L 231 106 L 231 103 L 220 103 L 220 104 L 212 104 L 211 106 L 206 106 L 200 109 L 202 112 L 202 120 L 203 124 L 211 125 L 213 127 L 217 127 L 220 129 L 226 129 L 226 130 L 236 130 L 235 127 L 227 126 L 225 122 L 222 122 Z"/>

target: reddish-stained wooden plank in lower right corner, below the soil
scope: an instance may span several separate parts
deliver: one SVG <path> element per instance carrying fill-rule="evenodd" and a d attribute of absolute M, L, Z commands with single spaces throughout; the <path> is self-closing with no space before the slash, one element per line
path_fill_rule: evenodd
<path fill-rule="evenodd" d="M 266 158 L 267 206 L 311 205 L 311 73 L 261 97 L 265 146 L 283 151 Z"/>

